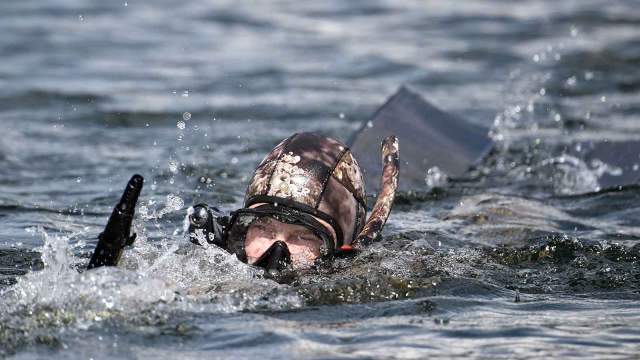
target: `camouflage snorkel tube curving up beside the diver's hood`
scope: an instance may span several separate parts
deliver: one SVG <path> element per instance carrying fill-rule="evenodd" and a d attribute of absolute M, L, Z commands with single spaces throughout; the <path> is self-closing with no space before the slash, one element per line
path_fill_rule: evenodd
<path fill-rule="evenodd" d="M 398 187 L 398 169 L 400 166 L 398 138 L 394 135 L 387 136 L 382 141 L 381 153 L 382 175 L 380 177 L 380 192 L 376 203 L 373 205 L 369 219 L 353 242 L 353 248 L 355 249 L 369 245 L 380 236 L 393 206 L 393 199 Z"/>

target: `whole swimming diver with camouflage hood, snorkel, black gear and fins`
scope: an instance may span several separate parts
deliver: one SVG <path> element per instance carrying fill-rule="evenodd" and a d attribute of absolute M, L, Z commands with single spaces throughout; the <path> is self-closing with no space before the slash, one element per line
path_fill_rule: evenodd
<path fill-rule="evenodd" d="M 294 134 L 280 142 L 256 169 L 241 209 L 224 214 L 206 204 L 189 208 L 189 238 L 195 244 L 219 246 L 265 268 L 267 274 L 355 253 L 380 236 L 391 211 L 399 176 L 395 135 L 405 149 L 399 190 L 411 191 L 424 186 L 427 169 L 437 169 L 446 178 L 464 178 L 493 151 L 488 133 L 489 129 L 446 113 L 403 86 L 362 123 L 349 148 L 311 133 Z M 381 139 L 379 195 L 365 222 L 364 179 L 369 191 L 376 190 L 373 175 L 380 160 L 373 147 Z M 612 149 L 631 153 L 638 146 L 633 141 L 604 142 L 593 145 L 590 156 L 615 164 L 617 160 L 607 155 L 618 154 Z M 624 173 L 629 177 L 616 182 L 615 177 L 603 178 L 604 184 L 637 182 L 637 173 Z M 123 248 L 135 240 L 135 234 L 129 233 L 142 185 L 139 175 L 129 181 L 99 236 L 89 268 L 117 265 Z"/>

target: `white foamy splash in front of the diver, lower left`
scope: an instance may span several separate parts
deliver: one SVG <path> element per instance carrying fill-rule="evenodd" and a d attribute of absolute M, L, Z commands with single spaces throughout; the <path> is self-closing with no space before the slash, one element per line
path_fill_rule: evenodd
<path fill-rule="evenodd" d="M 144 229 L 144 223 L 140 226 Z M 120 266 L 78 271 L 86 259 L 73 255 L 73 235 L 38 232 L 44 241 L 39 249 L 44 269 L 0 291 L 0 355 L 3 348 L 11 351 L 42 339 L 60 344 L 65 331 L 105 321 L 145 324 L 180 311 L 231 313 L 303 305 L 294 290 L 263 279 L 261 271 L 215 246 L 196 246 L 181 237 L 152 242 L 143 236 L 125 251 Z"/>

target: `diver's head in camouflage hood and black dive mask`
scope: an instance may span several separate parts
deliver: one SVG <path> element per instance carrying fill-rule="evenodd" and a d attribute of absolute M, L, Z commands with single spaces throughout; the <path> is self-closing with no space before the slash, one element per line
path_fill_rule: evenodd
<path fill-rule="evenodd" d="M 256 169 L 244 208 L 232 214 L 227 247 L 257 262 L 276 241 L 294 267 L 348 247 L 364 226 L 364 180 L 349 149 L 337 140 L 295 134 Z"/>

